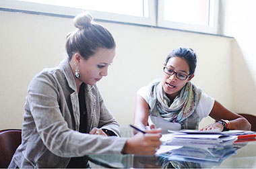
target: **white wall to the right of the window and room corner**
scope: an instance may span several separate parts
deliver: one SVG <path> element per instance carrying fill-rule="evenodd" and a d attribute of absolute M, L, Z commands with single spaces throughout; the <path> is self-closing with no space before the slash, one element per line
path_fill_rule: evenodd
<path fill-rule="evenodd" d="M 232 108 L 256 115 L 256 1 L 222 0 L 221 34 L 232 41 Z"/>

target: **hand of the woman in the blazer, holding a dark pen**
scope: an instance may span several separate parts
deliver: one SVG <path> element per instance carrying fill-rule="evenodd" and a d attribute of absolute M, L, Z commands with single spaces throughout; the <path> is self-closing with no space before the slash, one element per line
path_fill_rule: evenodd
<path fill-rule="evenodd" d="M 160 141 L 162 129 L 147 130 L 146 134 L 137 133 L 133 137 L 127 139 L 123 148 L 125 154 L 137 154 L 151 156 L 160 148 L 162 142 Z"/>

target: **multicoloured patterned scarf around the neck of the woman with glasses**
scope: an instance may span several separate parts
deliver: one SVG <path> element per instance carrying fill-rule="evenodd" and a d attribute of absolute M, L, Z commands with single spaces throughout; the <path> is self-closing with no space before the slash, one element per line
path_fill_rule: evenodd
<path fill-rule="evenodd" d="M 156 115 L 171 122 L 181 123 L 190 117 L 197 107 L 201 90 L 187 82 L 181 92 L 171 103 L 162 89 L 162 82 L 152 83 L 152 101 L 156 101 Z"/>

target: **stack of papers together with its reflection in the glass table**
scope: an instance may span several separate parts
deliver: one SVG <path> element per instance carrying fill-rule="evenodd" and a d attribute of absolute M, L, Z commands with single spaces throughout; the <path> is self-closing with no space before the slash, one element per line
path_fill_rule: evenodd
<path fill-rule="evenodd" d="M 162 135 L 162 154 L 158 154 L 162 166 L 174 168 L 212 168 L 236 153 L 233 143 L 237 135 L 220 131 L 181 130 Z M 165 146 L 165 147 L 164 147 Z"/>

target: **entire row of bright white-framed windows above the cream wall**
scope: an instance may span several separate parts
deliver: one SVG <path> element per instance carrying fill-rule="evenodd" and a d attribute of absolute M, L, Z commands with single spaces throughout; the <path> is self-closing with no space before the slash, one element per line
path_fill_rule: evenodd
<path fill-rule="evenodd" d="M 75 16 L 218 34 L 219 0 L 0 0 L 0 9 Z"/>

